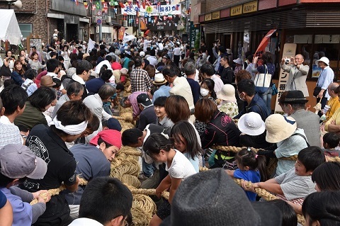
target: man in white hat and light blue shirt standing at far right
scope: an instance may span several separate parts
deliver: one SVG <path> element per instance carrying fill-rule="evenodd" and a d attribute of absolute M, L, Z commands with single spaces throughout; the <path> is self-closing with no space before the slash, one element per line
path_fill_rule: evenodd
<path fill-rule="evenodd" d="M 319 91 L 319 94 L 313 95 L 317 97 L 317 103 L 319 103 L 321 99 L 321 108 L 324 108 L 327 103 L 327 99 L 329 98 L 327 87 L 333 82 L 334 72 L 333 69 L 329 67 L 329 59 L 327 57 L 321 57 L 321 59 L 315 61 L 315 63 L 321 67 L 322 71 L 319 79 L 317 79 L 317 87 L 315 87 L 315 89 Z"/>

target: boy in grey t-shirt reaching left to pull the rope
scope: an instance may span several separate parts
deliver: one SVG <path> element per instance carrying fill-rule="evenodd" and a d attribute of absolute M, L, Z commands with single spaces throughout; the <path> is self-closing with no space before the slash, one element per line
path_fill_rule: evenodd
<path fill-rule="evenodd" d="M 321 148 L 316 146 L 306 147 L 297 155 L 295 168 L 276 176 L 274 179 L 253 183 L 250 189 L 245 189 L 254 191 L 254 188 L 264 188 L 276 193 L 283 200 L 302 205 L 304 198 L 315 192 L 312 172 L 324 162 L 326 162 L 326 159 Z"/>

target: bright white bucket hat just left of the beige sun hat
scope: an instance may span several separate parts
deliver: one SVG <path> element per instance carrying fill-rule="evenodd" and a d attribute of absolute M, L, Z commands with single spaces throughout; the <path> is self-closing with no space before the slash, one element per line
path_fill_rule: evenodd
<path fill-rule="evenodd" d="M 266 130 L 261 115 L 255 112 L 242 115 L 237 125 L 241 132 L 251 136 L 261 135 Z"/>

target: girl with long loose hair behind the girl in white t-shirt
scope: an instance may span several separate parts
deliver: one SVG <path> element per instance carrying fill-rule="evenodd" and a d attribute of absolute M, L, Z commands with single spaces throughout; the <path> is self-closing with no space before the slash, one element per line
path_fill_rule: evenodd
<path fill-rule="evenodd" d="M 199 166 L 202 166 L 203 149 L 198 144 L 193 126 L 188 121 L 181 120 L 172 128 L 171 137 L 174 138 L 175 148 L 189 159 L 196 172 L 198 172 Z"/>

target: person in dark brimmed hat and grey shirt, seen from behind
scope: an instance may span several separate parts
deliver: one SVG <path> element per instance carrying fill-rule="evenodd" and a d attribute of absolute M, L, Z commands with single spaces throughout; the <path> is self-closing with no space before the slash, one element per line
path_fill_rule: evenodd
<path fill-rule="evenodd" d="M 295 119 L 297 128 L 305 131 L 307 141 L 311 146 L 320 147 L 319 116 L 312 111 L 305 110 L 307 100 L 302 91 L 285 91 L 285 93 L 279 101 L 282 110 Z"/>

